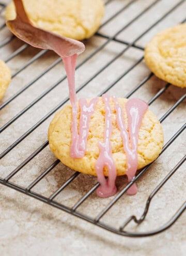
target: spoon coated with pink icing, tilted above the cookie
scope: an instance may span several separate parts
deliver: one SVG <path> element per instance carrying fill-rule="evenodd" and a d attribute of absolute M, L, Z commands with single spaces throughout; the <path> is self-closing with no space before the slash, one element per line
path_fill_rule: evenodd
<path fill-rule="evenodd" d="M 17 17 L 6 24 L 15 36 L 33 47 L 53 50 L 62 58 L 84 52 L 85 46 L 82 42 L 35 27 L 27 17 L 22 0 L 13 2 Z"/>

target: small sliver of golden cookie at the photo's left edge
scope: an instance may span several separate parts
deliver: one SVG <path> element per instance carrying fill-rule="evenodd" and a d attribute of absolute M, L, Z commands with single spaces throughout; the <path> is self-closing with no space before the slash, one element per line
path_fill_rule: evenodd
<path fill-rule="evenodd" d="M 0 60 L 0 100 L 3 98 L 10 81 L 10 69 L 3 61 Z"/>

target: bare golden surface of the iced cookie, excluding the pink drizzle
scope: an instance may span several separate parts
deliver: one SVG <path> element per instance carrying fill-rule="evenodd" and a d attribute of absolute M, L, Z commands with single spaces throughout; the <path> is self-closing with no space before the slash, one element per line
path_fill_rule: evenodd
<path fill-rule="evenodd" d="M 127 127 L 127 117 L 125 112 L 125 104 L 127 99 L 119 98 L 118 102 L 123 109 L 123 116 Z M 112 156 L 116 164 L 117 175 L 126 174 L 127 160 L 123 150 L 120 131 L 116 124 L 116 110 L 113 99 L 110 99 L 112 109 L 112 125 L 113 132 L 111 138 Z M 80 118 L 80 113 L 78 115 Z M 96 104 L 95 112 L 89 123 L 89 133 L 87 140 L 87 150 L 85 156 L 81 159 L 73 159 L 70 157 L 71 146 L 71 122 L 72 108 L 65 106 L 53 118 L 49 127 L 49 145 L 55 156 L 65 165 L 75 171 L 86 174 L 97 175 L 95 163 L 99 156 L 98 142 L 103 141 L 105 127 L 105 106 L 102 98 Z M 79 119 L 78 119 L 79 122 Z M 163 147 L 163 131 L 158 118 L 149 110 L 144 115 L 142 125 L 138 134 L 138 169 L 143 168 L 148 163 L 155 160 Z M 104 175 L 108 175 L 108 171 L 104 169 Z"/>

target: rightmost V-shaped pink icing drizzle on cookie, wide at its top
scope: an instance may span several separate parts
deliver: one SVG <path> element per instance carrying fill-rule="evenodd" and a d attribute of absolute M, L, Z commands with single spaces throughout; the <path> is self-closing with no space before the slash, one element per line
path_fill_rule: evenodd
<path fill-rule="evenodd" d="M 122 109 L 114 97 L 116 105 L 116 120 L 118 128 L 120 129 L 121 138 L 123 142 L 123 148 L 127 156 L 127 177 L 129 182 L 135 177 L 137 171 L 137 143 L 138 132 L 142 123 L 143 116 L 148 109 L 148 104 L 140 99 L 129 99 L 126 103 L 126 112 L 128 117 L 128 129 L 127 132 L 125 123 L 123 121 Z M 128 194 L 133 195 L 137 192 L 137 186 L 134 183 L 127 191 Z"/>

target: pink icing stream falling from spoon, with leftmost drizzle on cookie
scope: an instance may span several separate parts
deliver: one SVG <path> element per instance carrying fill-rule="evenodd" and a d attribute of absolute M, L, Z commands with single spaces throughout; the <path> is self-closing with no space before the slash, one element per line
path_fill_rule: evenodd
<path fill-rule="evenodd" d="M 80 125 L 79 132 L 77 130 L 77 100 L 75 93 L 75 63 L 77 54 L 63 58 L 64 66 L 67 73 L 68 85 L 69 85 L 69 96 L 72 104 L 72 143 L 70 148 L 70 156 L 72 158 L 82 158 L 85 155 L 89 121 L 91 115 L 94 113 L 96 102 L 98 98 L 91 99 L 88 103 L 86 99 L 80 99 Z"/>

